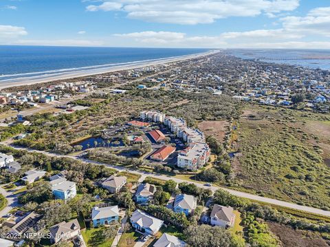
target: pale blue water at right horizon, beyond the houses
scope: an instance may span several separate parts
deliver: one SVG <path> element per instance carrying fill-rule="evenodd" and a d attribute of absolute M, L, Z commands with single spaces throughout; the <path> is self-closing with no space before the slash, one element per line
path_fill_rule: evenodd
<path fill-rule="evenodd" d="M 243 59 L 330 70 L 329 49 L 228 49 L 227 51 Z"/>

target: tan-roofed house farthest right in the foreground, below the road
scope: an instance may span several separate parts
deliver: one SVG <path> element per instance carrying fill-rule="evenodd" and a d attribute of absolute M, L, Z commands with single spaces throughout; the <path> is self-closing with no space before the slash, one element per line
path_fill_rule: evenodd
<path fill-rule="evenodd" d="M 235 215 L 232 207 L 224 207 L 219 204 L 214 204 L 210 214 L 210 224 L 212 226 L 228 227 L 233 226 Z"/>

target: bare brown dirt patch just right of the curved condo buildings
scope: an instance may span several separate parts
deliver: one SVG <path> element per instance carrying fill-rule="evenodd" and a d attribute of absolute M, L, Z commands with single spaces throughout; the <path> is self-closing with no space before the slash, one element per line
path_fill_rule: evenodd
<path fill-rule="evenodd" d="M 201 121 L 198 124 L 199 130 L 203 131 L 206 137 L 215 137 L 223 143 L 225 134 L 229 131 L 230 124 L 228 121 Z"/>

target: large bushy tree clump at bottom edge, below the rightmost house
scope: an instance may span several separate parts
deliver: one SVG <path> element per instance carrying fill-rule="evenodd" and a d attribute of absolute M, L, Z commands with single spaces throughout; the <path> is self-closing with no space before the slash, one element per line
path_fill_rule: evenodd
<path fill-rule="evenodd" d="M 185 231 L 186 242 L 198 247 L 243 247 L 243 243 L 233 240 L 232 234 L 219 226 L 189 226 Z"/>

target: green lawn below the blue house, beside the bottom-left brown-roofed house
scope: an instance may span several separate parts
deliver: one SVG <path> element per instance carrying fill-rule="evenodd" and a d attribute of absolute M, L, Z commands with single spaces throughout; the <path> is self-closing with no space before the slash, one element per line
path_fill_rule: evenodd
<path fill-rule="evenodd" d="M 110 247 L 113 242 L 113 239 L 104 241 L 104 239 L 102 238 L 102 231 L 102 227 L 89 228 L 81 231 L 81 235 L 83 235 L 85 243 L 89 247 Z"/>

